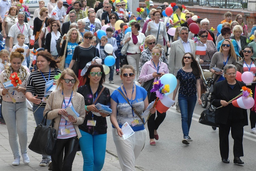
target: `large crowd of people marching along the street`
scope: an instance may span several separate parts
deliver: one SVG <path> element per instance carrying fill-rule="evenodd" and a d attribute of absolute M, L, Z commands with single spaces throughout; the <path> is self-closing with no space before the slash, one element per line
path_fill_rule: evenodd
<path fill-rule="evenodd" d="M 243 86 L 252 90 L 254 98 L 256 26 L 250 32 L 244 16 L 238 14 L 232 21 L 232 13 L 226 12 L 225 19 L 219 21 L 218 34 L 214 35 L 207 18 L 189 12 L 182 4 L 165 2 L 156 7 L 153 1 L 146 0 L 146 7 L 134 12 L 138 12 L 136 17 L 127 0 L 96 1 L 90 7 L 86 0 L 72 0 L 67 11 L 61 0 L 38 3 L 32 19 L 23 1 L 0 2 L 0 41 L 5 43 L 0 51 L 0 122 L 8 129 L 14 156 L 12 165 L 18 166 L 21 156 L 25 164 L 30 162 L 27 154 L 30 103 L 35 125 L 45 115 L 47 126 L 54 120 L 56 152 L 42 155 L 39 163 L 48 166 L 48 170 L 72 170 L 78 149 L 83 155 L 84 171 L 101 170 L 107 116 L 112 123 L 120 166 L 122 170 L 134 170 L 147 139 L 146 121 L 149 144 L 156 145 L 155 140 L 159 140 L 157 130 L 168 108 L 163 111 L 157 105 L 167 98 L 173 101 L 170 106 L 175 105 L 181 113 L 182 143 L 190 144 L 193 111 L 196 103 L 202 104 L 201 95 L 207 90 L 200 78 L 202 69 L 211 72 L 214 85 L 211 102 L 221 107 L 216 109 L 215 122 L 219 124 L 222 162 L 229 163 L 231 128 L 233 162 L 244 164 L 240 157 L 243 126 L 248 125 L 247 112 L 229 103 Z M 33 26 L 28 24 L 30 19 Z M 34 56 L 32 62 L 30 54 Z M 236 79 L 238 72 L 250 72 L 253 80 L 245 83 Z M 112 94 L 104 87 L 108 74 L 110 84 L 114 84 L 114 74 L 122 80 L 122 86 Z M 175 85 L 166 83 L 169 78 Z M 56 89 L 47 94 L 47 86 L 53 82 Z M 154 89 L 161 86 L 153 91 L 152 84 Z M 172 98 L 167 97 L 172 92 Z M 177 93 L 178 100 L 174 103 Z M 99 110 L 97 104 L 111 108 L 111 114 Z M 79 116 L 70 115 L 66 110 L 69 107 Z M 148 118 L 144 119 L 146 111 Z M 126 123 L 133 132 L 127 139 L 123 137 Z M 250 124 L 251 133 L 256 134 L 254 107 L 250 108 Z"/>

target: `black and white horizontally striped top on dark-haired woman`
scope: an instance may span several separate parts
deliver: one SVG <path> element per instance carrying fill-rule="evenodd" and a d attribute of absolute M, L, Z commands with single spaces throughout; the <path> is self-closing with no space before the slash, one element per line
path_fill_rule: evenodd
<path fill-rule="evenodd" d="M 57 70 L 57 74 L 61 73 L 59 68 L 56 68 L 56 70 Z M 49 72 L 43 73 L 43 75 L 44 75 L 45 79 L 48 81 Z M 54 76 L 56 76 L 55 69 L 53 71 L 51 71 L 49 80 L 54 79 Z M 38 95 L 37 98 L 40 98 L 42 100 L 44 97 L 44 88 L 45 88 L 45 83 L 46 83 L 45 79 L 43 78 L 40 71 L 32 72 L 28 78 L 26 93 L 30 92 L 33 94 L 33 96 Z M 36 104 L 34 104 L 34 105 L 40 106 L 41 103 L 39 105 L 36 105 Z M 40 107 L 45 107 L 45 106 L 46 106 L 46 103 L 43 103 Z"/>

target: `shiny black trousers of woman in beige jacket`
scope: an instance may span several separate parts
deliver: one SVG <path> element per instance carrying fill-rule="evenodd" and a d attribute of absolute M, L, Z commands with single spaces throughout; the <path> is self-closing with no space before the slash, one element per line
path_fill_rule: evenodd
<path fill-rule="evenodd" d="M 77 136 L 57 139 L 56 152 L 52 155 L 53 171 L 71 171 L 75 154 L 79 145 Z M 64 158 L 63 158 L 64 152 Z"/>

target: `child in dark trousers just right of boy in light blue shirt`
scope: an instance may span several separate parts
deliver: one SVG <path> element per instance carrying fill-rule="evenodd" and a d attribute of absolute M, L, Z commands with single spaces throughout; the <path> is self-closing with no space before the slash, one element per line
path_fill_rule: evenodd
<path fill-rule="evenodd" d="M 120 67 L 122 67 L 125 64 L 128 65 L 126 55 L 122 55 L 122 53 L 121 53 L 122 47 L 124 46 L 122 41 L 125 37 L 125 27 L 124 26 L 127 26 L 126 23 L 123 22 L 120 24 L 120 28 L 121 28 L 122 32 L 120 34 L 118 34 L 118 36 L 116 37 L 116 43 L 117 43 L 117 47 L 118 47 L 117 53 L 118 53 L 119 60 L 120 60 Z M 119 73 L 116 72 L 116 74 L 118 75 Z"/>

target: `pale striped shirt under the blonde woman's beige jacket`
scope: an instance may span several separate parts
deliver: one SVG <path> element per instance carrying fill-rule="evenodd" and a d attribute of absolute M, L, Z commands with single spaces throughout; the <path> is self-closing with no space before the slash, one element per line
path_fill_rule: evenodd
<path fill-rule="evenodd" d="M 68 105 L 70 97 L 64 97 L 64 99 L 65 99 L 66 105 Z M 69 106 L 72 106 L 72 101 L 70 101 L 70 104 L 67 107 L 69 107 Z M 62 109 L 65 109 L 64 102 L 62 103 Z M 66 128 L 69 128 L 69 130 L 70 130 L 70 134 L 61 135 L 61 131 L 60 130 L 61 129 L 65 129 L 65 124 L 66 124 L 66 119 L 61 115 L 57 138 L 58 139 L 67 139 L 67 138 L 71 138 L 71 137 L 77 136 L 74 124 L 72 122 L 70 122 L 70 121 L 67 121 L 67 125 L 66 125 Z"/>

